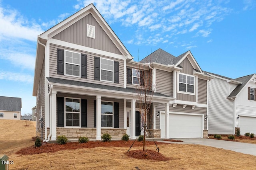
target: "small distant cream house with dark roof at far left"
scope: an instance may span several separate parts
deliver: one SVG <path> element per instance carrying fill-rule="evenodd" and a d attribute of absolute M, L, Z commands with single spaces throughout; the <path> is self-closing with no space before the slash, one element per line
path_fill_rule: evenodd
<path fill-rule="evenodd" d="M 21 119 L 21 98 L 0 96 L 0 119 Z"/>

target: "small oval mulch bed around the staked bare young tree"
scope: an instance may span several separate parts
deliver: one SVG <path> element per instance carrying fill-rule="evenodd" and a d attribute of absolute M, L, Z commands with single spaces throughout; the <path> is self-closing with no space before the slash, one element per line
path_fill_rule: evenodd
<path fill-rule="evenodd" d="M 137 159 L 151 159 L 151 160 L 170 160 L 170 158 L 167 158 L 163 156 L 161 153 L 156 152 L 154 150 L 130 150 L 129 152 L 126 152 L 126 154 L 131 158 L 137 158 Z"/>

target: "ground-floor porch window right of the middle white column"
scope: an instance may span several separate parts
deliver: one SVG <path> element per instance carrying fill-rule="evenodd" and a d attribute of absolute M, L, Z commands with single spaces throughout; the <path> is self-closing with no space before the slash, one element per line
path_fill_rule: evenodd
<path fill-rule="evenodd" d="M 113 127 L 113 102 L 101 102 L 101 127 Z"/>

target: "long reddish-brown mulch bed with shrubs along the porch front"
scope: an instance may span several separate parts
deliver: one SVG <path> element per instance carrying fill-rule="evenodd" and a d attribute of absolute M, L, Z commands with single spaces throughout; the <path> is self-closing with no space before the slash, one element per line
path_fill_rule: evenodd
<path fill-rule="evenodd" d="M 101 141 L 89 141 L 88 143 L 78 143 L 78 142 L 70 142 L 65 145 L 60 145 L 57 143 L 43 143 L 41 147 L 26 147 L 22 148 L 16 152 L 16 154 L 41 154 L 41 153 L 52 153 L 57 152 L 59 150 L 72 150 L 72 149 L 82 149 L 82 148 L 96 148 L 96 147 L 127 147 L 128 149 L 132 146 L 138 147 L 143 146 L 143 141 L 111 141 L 111 142 L 101 142 Z M 171 145 L 169 143 L 160 143 L 156 142 L 156 145 Z M 146 141 L 146 145 L 155 145 L 153 141 Z M 127 149 L 127 150 L 128 150 Z"/>

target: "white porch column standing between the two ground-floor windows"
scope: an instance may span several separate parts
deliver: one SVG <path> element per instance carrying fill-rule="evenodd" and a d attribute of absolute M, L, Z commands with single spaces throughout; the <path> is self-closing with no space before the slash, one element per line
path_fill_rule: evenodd
<path fill-rule="evenodd" d="M 96 140 L 101 140 L 101 96 L 96 96 Z"/>

